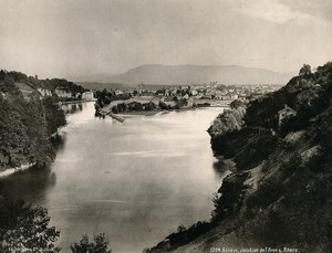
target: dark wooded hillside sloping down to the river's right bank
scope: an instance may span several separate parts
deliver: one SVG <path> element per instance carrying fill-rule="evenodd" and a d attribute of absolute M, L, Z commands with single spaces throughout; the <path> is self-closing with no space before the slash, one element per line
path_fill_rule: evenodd
<path fill-rule="evenodd" d="M 280 122 L 286 104 L 295 114 Z M 208 133 L 218 169 L 230 171 L 210 221 L 179 226 L 146 252 L 332 252 L 332 62 L 314 72 L 304 64 L 281 89 L 232 103 Z"/>

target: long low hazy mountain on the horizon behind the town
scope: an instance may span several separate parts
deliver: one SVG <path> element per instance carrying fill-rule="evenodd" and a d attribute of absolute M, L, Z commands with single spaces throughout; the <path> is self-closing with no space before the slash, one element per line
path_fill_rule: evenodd
<path fill-rule="evenodd" d="M 237 65 L 159 65 L 148 64 L 118 75 L 103 75 L 97 82 L 138 85 L 189 85 L 218 82 L 220 84 L 286 84 L 291 74 Z"/>

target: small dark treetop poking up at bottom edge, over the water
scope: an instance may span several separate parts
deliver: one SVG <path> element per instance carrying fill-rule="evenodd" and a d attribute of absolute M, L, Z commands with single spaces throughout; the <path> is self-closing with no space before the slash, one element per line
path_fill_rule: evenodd
<path fill-rule="evenodd" d="M 74 242 L 71 245 L 71 250 L 73 253 L 112 253 L 103 233 L 95 235 L 94 242 L 89 242 L 89 236 L 83 234 L 79 243 Z"/>

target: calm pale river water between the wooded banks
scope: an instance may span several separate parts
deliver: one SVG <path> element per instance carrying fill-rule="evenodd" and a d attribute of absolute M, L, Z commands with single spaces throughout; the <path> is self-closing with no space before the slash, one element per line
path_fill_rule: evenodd
<path fill-rule="evenodd" d="M 49 210 L 63 252 L 83 233 L 105 233 L 113 252 L 142 252 L 208 220 L 225 173 L 206 129 L 221 108 L 94 118 L 93 103 L 66 105 L 68 127 L 51 170 L 1 181 L 0 194 Z"/>

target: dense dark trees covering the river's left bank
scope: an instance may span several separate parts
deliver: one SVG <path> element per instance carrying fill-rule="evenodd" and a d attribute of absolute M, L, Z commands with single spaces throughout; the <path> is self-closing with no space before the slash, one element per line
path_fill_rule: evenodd
<path fill-rule="evenodd" d="M 29 99 L 23 97 L 15 82 L 32 85 L 29 80 L 19 72 L 0 71 L 0 170 L 49 165 L 55 158 L 51 137 L 66 124 L 54 97 L 42 99 L 35 89 Z"/>

